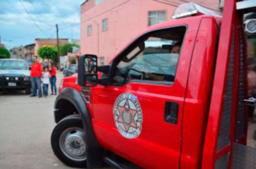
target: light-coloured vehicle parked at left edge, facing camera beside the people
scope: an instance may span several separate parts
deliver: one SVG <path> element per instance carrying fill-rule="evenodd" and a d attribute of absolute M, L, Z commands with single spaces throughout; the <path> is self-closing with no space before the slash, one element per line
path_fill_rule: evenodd
<path fill-rule="evenodd" d="M 0 59 L 0 89 L 25 90 L 31 93 L 28 63 L 21 59 Z"/>

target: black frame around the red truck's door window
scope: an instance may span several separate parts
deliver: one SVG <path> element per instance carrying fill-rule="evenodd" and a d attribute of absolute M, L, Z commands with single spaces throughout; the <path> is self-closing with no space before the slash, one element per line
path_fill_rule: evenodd
<path fill-rule="evenodd" d="M 185 27 L 186 28 L 186 31 L 184 33 L 184 37 L 182 39 L 182 45 L 180 47 L 180 56 L 182 54 L 182 48 L 183 48 L 183 45 L 184 45 L 184 41 L 186 39 L 186 35 L 187 35 L 187 32 L 188 32 L 188 25 L 186 24 L 180 24 L 180 25 L 176 25 L 176 26 L 168 26 L 168 27 L 165 27 L 165 28 L 158 28 L 158 29 L 153 29 L 153 30 L 150 30 L 150 31 L 147 31 L 146 33 L 140 35 L 139 37 L 137 37 L 136 39 L 134 39 L 134 41 L 132 41 L 128 46 L 126 46 L 120 53 L 119 55 L 117 55 L 112 63 L 110 64 L 110 71 L 108 73 L 108 77 L 109 77 L 109 84 L 110 86 L 124 86 L 124 85 L 127 85 L 129 83 L 146 83 L 146 84 L 151 84 L 151 85 L 167 85 L 167 86 L 172 86 L 174 85 L 175 83 L 175 79 L 176 79 L 176 73 L 177 73 L 177 69 L 178 69 L 178 65 L 179 65 L 179 60 L 180 60 L 180 56 L 178 58 L 178 63 L 177 63 L 177 66 L 176 66 L 176 72 L 175 72 L 175 76 L 174 76 L 174 81 L 173 82 L 168 82 L 168 81 L 149 81 L 149 80 L 131 80 L 131 81 L 128 81 L 127 83 L 123 83 L 123 84 L 115 84 L 112 82 L 112 79 L 114 78 L 114 75 L 115 75 L 115 69 L 116 69 L 116 66 L 120 63 L 122 57 L 124 57 L 124 55 L 128 55 L 133 49 L 134 47 L 137 47 L 138 44 L 141 42 L 141 41 L 145 41 L 146 37 L 150 37 L 151 34 L 154 34 L 154 33 L 157 33 L 159 31 L 163 31 L 163 30 L 167 30 L 167 29 L 174 29 L 174 28 L 178 28 L 178 27 Z"/>

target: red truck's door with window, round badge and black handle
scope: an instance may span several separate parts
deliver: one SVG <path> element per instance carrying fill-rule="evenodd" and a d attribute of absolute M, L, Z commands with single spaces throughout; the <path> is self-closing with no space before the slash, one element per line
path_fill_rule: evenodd
<path fill-rule="evenodd" d="M 92 88 L 93 128 L 101 145 L 145 168 L 179 168 L 198 24 L 195 19 L 193 26 L 148 31 L 114 59 L 110 85 Z"/>

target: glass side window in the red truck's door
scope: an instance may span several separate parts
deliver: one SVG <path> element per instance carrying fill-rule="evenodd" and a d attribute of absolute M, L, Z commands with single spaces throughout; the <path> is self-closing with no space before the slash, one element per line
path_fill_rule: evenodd
<path fill-rule="evenodd" d="M 185 26 L 159 30 L 139 38 L 126 55 L 116 64 L 112 83 L 166 82 L 173 84 L 186 32 Z"/>

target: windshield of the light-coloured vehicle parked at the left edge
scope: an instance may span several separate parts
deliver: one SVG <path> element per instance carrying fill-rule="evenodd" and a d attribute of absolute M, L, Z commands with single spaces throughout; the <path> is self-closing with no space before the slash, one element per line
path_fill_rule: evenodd
<path fill-rule="evenodd" d="M 28 70 L 26 61 L 0 60 L 0 69 Z"/>

